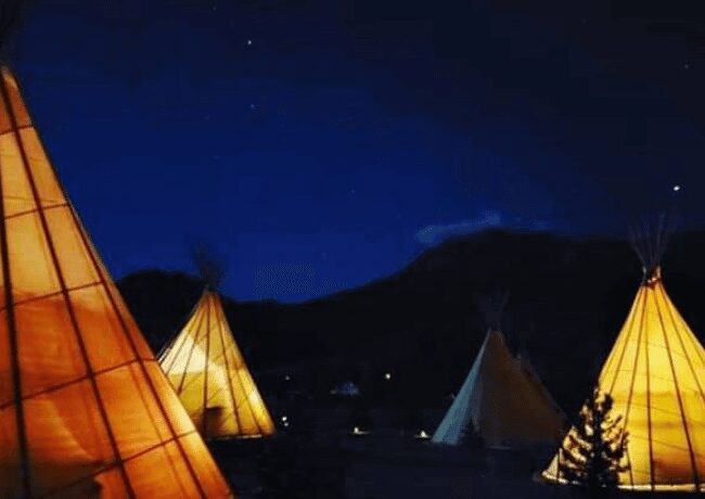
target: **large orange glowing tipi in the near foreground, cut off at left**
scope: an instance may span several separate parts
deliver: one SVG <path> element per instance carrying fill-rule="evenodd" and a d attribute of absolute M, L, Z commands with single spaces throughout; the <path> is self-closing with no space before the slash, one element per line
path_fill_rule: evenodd
<path fill-rule="evenodd" d="M 231 497 L 8 68 L 0 194 L 0 497 Z"/>

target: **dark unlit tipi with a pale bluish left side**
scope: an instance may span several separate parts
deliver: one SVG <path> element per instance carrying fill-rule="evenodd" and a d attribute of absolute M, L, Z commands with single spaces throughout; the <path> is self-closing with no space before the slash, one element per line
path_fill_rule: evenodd
<path fill-rule="evenodd" d="M 475 431 L 489 447 L 556 444 L 565 427 L 563 413 L 538 384 L 512 357 L 502 333 L 490 329 L 432 442 L 460 445 L 466 432 Z"/>

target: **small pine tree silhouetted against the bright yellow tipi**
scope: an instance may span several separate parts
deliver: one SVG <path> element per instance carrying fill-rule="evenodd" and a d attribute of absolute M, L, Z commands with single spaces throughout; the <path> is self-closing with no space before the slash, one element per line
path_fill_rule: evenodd
<path fill-rule="evenodd" d="M 614 489 L 626 463 L 627 432 L 621 415 L 611 414 L 614 400 L 594 388 L 580 411 L 580 420 L 559 450 L 559 474 L 592 494 Z"/>

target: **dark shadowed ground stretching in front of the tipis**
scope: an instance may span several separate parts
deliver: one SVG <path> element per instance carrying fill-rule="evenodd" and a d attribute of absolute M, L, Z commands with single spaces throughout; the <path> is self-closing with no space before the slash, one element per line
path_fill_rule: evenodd
<path fill-rule="evenodd" d="M 536 483 L 533 474 L 546 461 L 537 455 L 438 447 L 411 437 L 280 436 L 211 443 L 211 449 L 241 499 L 588 497 L 572 487 Z M 644 494 L 610 497 L 643 498 Z"/>

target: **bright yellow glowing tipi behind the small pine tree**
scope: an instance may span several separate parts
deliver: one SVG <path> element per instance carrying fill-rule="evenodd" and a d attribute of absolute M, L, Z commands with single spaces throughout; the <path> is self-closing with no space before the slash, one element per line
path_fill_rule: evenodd
<path fill-rule="evenodd" d="M 629 432 L 624 487 L 705 490 L 705 349 L 658 277 L 640 287 L 599 386 Z M 554 458 L 543 476 L 556 472 Z"/>

